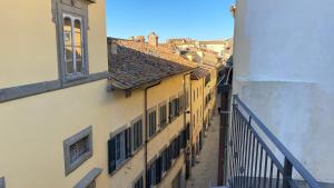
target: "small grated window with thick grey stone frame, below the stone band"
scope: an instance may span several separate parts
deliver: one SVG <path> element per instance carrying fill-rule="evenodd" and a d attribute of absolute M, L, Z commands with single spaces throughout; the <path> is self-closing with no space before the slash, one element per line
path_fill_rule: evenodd
<path fill-rule="evenodd" d="M 91 126 L 63 141 L 65 174 L 69 175 L 92 156 Z"/>

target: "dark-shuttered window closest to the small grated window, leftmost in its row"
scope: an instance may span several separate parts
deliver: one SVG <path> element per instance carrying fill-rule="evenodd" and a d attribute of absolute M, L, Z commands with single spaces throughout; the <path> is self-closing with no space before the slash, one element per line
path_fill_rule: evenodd
<path fill-rule="evenodd" d="M 126 128 L 108 141 L 109 174 L 119 168 L 131 156 L 131 128 Z"/>

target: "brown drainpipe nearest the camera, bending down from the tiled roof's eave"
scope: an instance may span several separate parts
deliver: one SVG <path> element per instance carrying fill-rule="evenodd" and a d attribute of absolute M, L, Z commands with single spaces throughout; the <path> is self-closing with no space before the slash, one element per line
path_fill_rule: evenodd
<path fill-rule="evenodd" d="M 148 142 L 148 136 L 147 136 L 147 126 L 148 126 L 148 123 L 147 123 L 147 91 L 148 91 L 148 89 L 149 88 L 153 88 L 153 87 L 155 87 L 155 86 L 158 86 L 158 85 L 160 85 L 160 81 L 159 82 L 157 82 L 157 83 L 154 83 L 154 85 L 150 85 L 150 86 L 148 86 L 148 87 L 146 87 L 145 88 L 145 90 L 144 90 L 144 132 L 145 132 L 145 145 L 144 145 L 144 151 L 145 151 L 145 154 L 144 154 L 144 179 L 143 179 L 143 181 L 144 181 L 144 187 L 147 187 L 146 186 L 146 180 L 147 180 L 147 142 Z"/>

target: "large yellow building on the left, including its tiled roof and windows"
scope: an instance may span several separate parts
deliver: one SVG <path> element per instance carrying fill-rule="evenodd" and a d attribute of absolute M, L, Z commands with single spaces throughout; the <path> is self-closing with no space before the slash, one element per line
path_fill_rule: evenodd
<path fill-rule="evenodd" d="M 0 12 L 0 188 L 185 186 L 194 62 L 154 33 L 106 42 L 104 0 Z"/>

